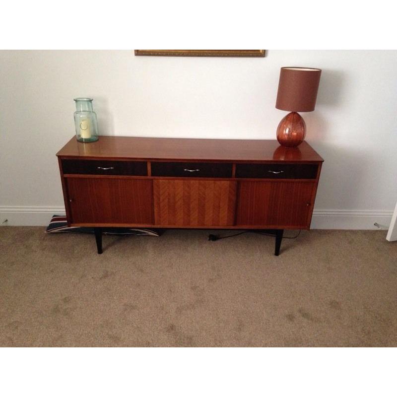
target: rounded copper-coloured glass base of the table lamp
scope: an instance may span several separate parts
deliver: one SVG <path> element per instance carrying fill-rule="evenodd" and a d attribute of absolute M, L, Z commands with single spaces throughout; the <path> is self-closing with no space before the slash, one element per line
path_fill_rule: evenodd
<path fill-rule="evenodd" d="M 277 127 L 277 140 L 282 146 L 295 147 L 305 139 L 306 124 L 299 113 L 288 113 Z"/>

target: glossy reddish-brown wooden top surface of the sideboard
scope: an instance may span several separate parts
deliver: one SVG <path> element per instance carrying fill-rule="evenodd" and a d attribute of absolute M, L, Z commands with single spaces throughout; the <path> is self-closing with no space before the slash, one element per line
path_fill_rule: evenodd
<path fill-rule="evenodd" d="M 306 142 L 296 148 L 277 140 L 147 138 L 99 136 L 96 142 L 78 142 L 73 136 L 57 153 L 60 157 L 147 160 L 298 161 L 323 158 Z"/>

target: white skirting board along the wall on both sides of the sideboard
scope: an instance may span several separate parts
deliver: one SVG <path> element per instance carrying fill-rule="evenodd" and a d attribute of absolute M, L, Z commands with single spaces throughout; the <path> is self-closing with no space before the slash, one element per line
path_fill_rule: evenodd
<path fill-rule="evenodd" d="M 65 207 L 0 206 L 2 226 L 47 226 L 51 216 L 65 215 Z M 387 230 L 393 211 L 314 210 L 312 229 Z M 4 222 L 7 219 L 7 222 Z"/>

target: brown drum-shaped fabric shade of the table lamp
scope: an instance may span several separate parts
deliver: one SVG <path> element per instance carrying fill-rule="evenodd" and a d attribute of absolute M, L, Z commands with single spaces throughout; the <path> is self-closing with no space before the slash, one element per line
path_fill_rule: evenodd
<path fill-rule="evenodd" d="M 312 112 L 316 105 L 321 69 L 281 67 L 276 108 L 289 112 Z"/>

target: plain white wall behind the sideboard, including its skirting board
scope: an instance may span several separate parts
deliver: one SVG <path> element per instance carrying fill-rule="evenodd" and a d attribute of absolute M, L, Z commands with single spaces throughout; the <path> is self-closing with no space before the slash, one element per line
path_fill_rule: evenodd
<path fill-rule="evenodd" d="M 265 58 L 135 57 L 132 51 L 0 51 L 0 222 L 62 210 L 55 153 L 73 98 L 100 134 L 274 139 L 281 66 L 323 69 L 306 140 L 325 163 L 312 226 L 387 227 L 397 200 L 397 51 L 267 51 Z"/>

